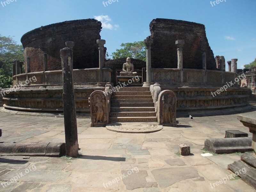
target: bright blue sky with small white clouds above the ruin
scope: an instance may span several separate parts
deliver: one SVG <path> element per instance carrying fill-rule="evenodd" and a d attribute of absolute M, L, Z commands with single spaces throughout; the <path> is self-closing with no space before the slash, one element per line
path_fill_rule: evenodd
<path fill-rule="evenodd" d="M 0 0 L 0 34 L 20 38 L 26 32 L 66 20 L 97 18 L 109 53 L 121 43 L 142 41 L 156 18 L 205 25 L 214 56 L 238 59 L 237 68 L 256 58 L 256 0 Z M 107 0 L 104 0 L 106 2 Z M 112 1 L 112 0 L 111 0 Z M 213 4 L 214 1 L 214 4 Z M 4 5 L 5 2 L 5 5 Z M 227 66 L 227 63 L 226 63 Z M 227 68 L 227 67 L 226 67 Z"/>

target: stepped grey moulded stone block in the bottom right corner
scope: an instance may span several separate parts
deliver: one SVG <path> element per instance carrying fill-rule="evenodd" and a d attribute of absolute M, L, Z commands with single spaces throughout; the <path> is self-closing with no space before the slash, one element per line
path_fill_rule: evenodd
<path fill-rule="evenodd" d="M 228 165 L 228 169 L 234 172 L 236 175 L 247 184 L 256 189 L 256 169 L 244 163 L 243 161 L 235 161 Z"/>

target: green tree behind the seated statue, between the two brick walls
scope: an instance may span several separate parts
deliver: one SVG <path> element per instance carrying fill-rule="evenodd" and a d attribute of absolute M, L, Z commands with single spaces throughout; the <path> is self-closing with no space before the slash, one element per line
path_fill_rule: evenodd
<path fill-rule="evenodd" d="M 112 53 L 113 59 L 122 57 L 130 57 L 146 61 L 146 45 L 143 41 L 135 41 L 134 43 L 122 43 L 121 49 L 116 49 Z"/>

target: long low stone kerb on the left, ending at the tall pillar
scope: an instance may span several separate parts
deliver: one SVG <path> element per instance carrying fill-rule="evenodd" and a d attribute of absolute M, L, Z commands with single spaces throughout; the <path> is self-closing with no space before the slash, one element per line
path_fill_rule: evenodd
<path fill-rule="evenodd" d="M 0 143 L 0 156 L 49 156 L 66 155 L 65 143 Z"/>

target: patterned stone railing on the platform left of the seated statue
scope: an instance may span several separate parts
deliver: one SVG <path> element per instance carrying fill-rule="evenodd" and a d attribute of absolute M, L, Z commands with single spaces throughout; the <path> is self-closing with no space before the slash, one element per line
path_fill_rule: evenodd
<path fill-rule="evenodd" d="M 88 68 L 88 69 L 74 69 L 74 84 L 83 84 L 83 83 L 98 83 L 100 82 L 99 77 L 99 68 Z M 103 68 L 103 82 L 111 82 L 111 72 L 110 68 Z M 29 80 L 35 76 L 36 81 L 29 81 L 26 84 L 26 80 Z M 40 84 L 48 84 L 48 85 L 60 85 L 62 84 L 62 71 L 41 71 L 41 72 L 33 72 L 33 73 L 23 73 L 19 75 L 15 75 L 12 77 L 13 85 L 21 84 L 22 85 L 40 85 Z M 18 80 L 18 82 L 16 81 Z M 28 82 L 28 81 L 27 81 Z"/>

